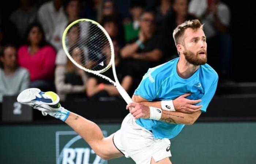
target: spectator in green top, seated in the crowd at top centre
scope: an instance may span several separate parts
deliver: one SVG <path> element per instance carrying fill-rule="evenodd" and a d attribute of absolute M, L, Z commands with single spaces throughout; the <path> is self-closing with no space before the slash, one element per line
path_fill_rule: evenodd
<path fill-rule="evenodd" d="M 130 13 L 132 15 L 132 21 L 124 24 L 125 42 L 129 42 L 131 39 L 138 38 L 140 27 L 140 16 L 143 12 L 144 1 L 132 0 L 130 5 Z"/>

